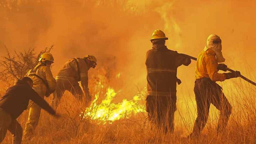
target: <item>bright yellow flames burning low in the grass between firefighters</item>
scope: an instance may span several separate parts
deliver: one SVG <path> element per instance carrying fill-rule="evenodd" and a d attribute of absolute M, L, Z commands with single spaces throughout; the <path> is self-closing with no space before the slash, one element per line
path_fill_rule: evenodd
<path fill-rule="evenodd" d="M 116 75 L 116 78 L 119 77 L 120 73 Z M 115 104 L 113 103 L 113 99 L 121 91 L 116 92 L 109 86 L 106 89 L 101 81 L 97 82 L 94 88 L 98 90 L 98 92 L 95 94 L 91 105 L 86 108 L 84 112 L 81 112 L 80 117 L 83 119 L 89 118 L 90 120 L 98 121 L 98 123 L 111 124 L 115 120 L 129 118 L 133 114 L 145 112 L 144 105 L 139 104 L 139 102 L 144 99 L 145 91 L 138 92 L 132 100 L 123 99 L 122 102 Z M 106 89 L 106 93 L 104 94 L 105 99 L 103 99 L 100 104 L 97 104 L 104 89 Z"/>

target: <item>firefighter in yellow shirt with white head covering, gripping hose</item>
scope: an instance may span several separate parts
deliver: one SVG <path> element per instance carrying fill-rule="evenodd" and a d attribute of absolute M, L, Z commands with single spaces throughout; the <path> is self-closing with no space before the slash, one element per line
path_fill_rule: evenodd
<path fill-rule="evenodd" d="M 240 76 L 239 71 L 233 73 L 218 73 L 218 70 L 227 71 L 227 66 L 223 63 L 225 58 L 222 55 L 221 39 L 219 36 L 211 34 L 207 38 L 204 50 L 198 55 L 196 64 L 195 97 L 197 104 L 197 118 L 194 124 L 191 137 L 199 137 L 205 127 L 209 115 L 210 104 L 213 104 L 220 111 L 220 118 L 217 133 L 224 130 L 231 114 L 231 105 L 222 92 L 222 87 L 216 81 L 236 78 Z"/>

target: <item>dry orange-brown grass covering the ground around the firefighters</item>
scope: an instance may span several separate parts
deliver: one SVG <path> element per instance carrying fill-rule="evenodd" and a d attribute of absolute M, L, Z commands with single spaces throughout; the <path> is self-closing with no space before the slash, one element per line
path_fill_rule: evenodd
<path fill-rule="evenodd" d="M 191 132 L 192 122 L 195 120 L 195 115 L 189 111 L 189 105 L 194 104 L 193 98 L 187 99 L 185 108 L 178 105 L 175 116 L 175 132 L 165 135 L 148 123 L 145 118 L 146 114 L 138 114 L 129 119 L 105 125 L 98 125 L 86 120 L 81 121 L 79 112 L 83 108 L 76 103 L 72 95 L 65 93 L 57 110 L 62 117 L 55 119 L 42 111 L 35 137 L 31 141 L 23 143 L 255 143 L 255 88 L 247 84 L 239 83 L 239 85 L 243 85 L 243 87 L 225 86 L 224 92 L 229 95 L 228 99 L 233 110 L 226 131 L 221 136 L 216 135 L 219 113 L 215 108 L 211 108 L 207 125 L 201 137 L 193 140 L 186 138 Z M 187 112 L 186 115 L 183 115 L 185 109 Z M 23 128 L 27 116 L 28 111 L 25 111 L 18 118 Z M 8 132 L 3 143 L 11 143 L 11 140 L 11 135 Z"/>

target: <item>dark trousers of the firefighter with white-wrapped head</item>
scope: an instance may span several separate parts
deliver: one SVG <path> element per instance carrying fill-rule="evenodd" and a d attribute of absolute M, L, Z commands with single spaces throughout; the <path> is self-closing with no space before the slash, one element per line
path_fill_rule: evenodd
<path fill-rule="evenodd" d="M 231 105 L 222 92 L 222 88 L 208 78 L 197 79 L 194 87 L 197 118 L 191 136 L 199 136 L 206 125 L 210 104 L 220 110 L 217 133 L 224 130 L 231 114 Z"/>

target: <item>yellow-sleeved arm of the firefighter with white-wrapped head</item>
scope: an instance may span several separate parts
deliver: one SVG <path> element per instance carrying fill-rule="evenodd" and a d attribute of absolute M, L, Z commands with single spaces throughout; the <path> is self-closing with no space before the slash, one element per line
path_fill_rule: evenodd
<path fill-rule="evenodd" d="M 226 79 L 225 74 L 218 73 L 218 63 L 215 55 L 208 54 L 204 57 L 207 73 L 212 81 L 224 81 Z"/>

